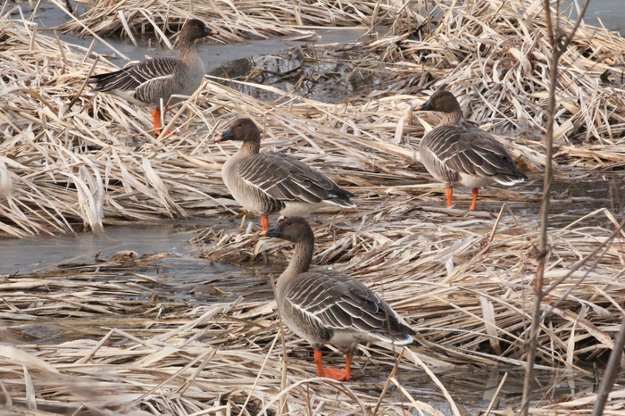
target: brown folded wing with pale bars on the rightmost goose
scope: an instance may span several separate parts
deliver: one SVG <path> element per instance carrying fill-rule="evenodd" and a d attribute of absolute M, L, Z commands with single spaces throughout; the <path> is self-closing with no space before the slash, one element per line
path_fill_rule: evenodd
<path fill-rule="evenodd" d="M 439 126 L 426 139 L 429 150 L 453 171 L 491 178 L 504 185 L 527 179 L 495 137 L 468 123 Z"/>

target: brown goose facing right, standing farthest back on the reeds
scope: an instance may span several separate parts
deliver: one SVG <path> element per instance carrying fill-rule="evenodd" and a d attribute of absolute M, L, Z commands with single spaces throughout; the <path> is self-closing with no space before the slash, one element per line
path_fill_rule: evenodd
<path fill-rule="evenodd" d="M 204 22 L 192 19 L 180 30 L 178 59 L 148 59 L 120 71 L 95 75 L 87 83 L 96 84 L 92 91 L 119 96 L 133 104 L 150 105 L 154 133 L 159 136 L 162 129 L 161 100 L 166 106 L 171 96 L 191 96 L 196 92 L 205 73 L 204 62 L 196 51 L 196 40 L 218 34 L 217 30 L 208 29 Z M 179 100 L 174 98 L 172 103 Z"/>

